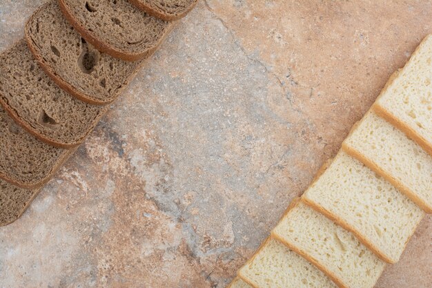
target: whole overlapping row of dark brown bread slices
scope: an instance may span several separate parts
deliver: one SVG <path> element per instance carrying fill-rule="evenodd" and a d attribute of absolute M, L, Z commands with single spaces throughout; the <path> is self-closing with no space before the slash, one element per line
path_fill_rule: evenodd
<path fill-rule="evenodd" d="M 0 55 L 0 226 L 17 220 L 196 1 L 51 0 Z"/>

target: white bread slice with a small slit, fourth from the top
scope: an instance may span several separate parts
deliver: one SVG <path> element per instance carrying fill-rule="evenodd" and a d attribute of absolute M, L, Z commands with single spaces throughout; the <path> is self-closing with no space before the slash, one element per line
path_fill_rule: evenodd
<path fill-rule="evenodd" d="M 386 266 L 353 233 L 298 199 L 271 235 L 313 263 L 339 287 L 372 288 Z"/>

